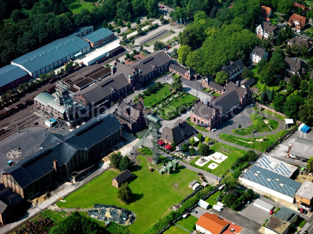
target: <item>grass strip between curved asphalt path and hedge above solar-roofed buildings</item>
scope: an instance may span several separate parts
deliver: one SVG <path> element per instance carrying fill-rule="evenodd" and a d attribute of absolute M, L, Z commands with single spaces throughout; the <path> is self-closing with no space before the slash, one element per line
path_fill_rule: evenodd
<path fill-rule="evenodd" d="M 237 137 L 237 136 L 233 136 L 231 134 L 226 134 L 226 133 L 219 134 L 218 137 L 220 139 L 226 140 L 234 144 L 238 144 L 238 145 L 250 148 L 250 149 L 256 149 L 256 150 L 264 152 L 266 148 L 268 148 L 271 144 L 275 143 L 281 136 L 285 135 L 286 132 L 287 130 L 282 130 L 276 134 L 267 135 L 266 139 L 268 140 L 265 140 L 262 142 L 259 142 L 256 140 L 262 139 L 264 137 L 242 138 L 242 137 Z"/>

